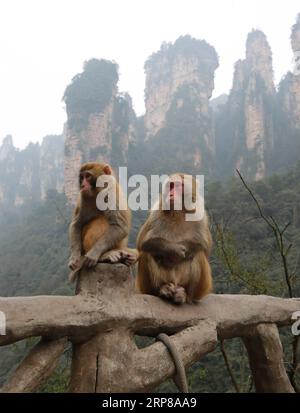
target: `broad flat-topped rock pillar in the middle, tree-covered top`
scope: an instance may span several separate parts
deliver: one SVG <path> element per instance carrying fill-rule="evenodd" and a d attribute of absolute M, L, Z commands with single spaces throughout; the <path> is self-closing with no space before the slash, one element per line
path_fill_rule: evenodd
<path fill-rule="evenodd" d="M 213 161 L 209 99 L 218 64 L 215 49 L 190 36 L 163 44 L 145 63 L 145 139 L 168 147 L 174 163 L 208 170 Z"/>

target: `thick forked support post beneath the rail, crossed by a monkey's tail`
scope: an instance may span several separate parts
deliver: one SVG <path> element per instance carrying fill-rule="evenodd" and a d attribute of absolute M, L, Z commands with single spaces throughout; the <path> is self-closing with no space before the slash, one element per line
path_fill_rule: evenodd
<path fill-rule="evenodd" d="M 217 345 L 214 323 L 203 320 L 171 336 L 185 367 Z M 122 343 L 122 345 L 120 345 Z M 150 391 L 176 373 L 164 344 L 138 349 L 133 333 L 115 329 L 74 345 L 71 393 L 137 393 Z"/>

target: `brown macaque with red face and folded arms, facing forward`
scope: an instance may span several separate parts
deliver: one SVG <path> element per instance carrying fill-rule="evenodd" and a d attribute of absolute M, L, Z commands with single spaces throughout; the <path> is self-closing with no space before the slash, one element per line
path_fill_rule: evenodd
<path fill-rule="evenodd" d="M 137 288 L 143 294 L 182 304 L 200 300 L 212 290 L 208 262 L 212 238 L 202 200 L 196 196 L 197 185 L 194 177 L 172 175 L 140 230 Z M 185 198 L 193 206 L 186 206 Z M 178 201 L 182 208 L 176 207 Z M 186 219 L 186 214 L 200 210 L 203 214 L 196 220 Z"/>

